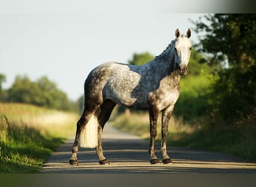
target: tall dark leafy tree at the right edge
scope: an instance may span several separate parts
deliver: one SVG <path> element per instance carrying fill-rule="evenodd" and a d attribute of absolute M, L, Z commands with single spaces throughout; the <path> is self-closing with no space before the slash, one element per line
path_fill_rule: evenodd
<path fill-rule="evenodd" d="M 216 69 L 213 111 L 223 119 L 247 117 L 256 103 L 256 15 L 210 14 L 200 19 L 195 31 L 206 33 L 198 47 Z M 210 54 L 210 55 L 209 55 Z"/>

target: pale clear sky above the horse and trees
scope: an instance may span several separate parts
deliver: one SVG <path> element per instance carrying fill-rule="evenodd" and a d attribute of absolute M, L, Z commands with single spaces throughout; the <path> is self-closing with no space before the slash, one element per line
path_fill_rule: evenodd
<path fill-rule="evenodd" d="M 31 81 L 47 76 L 76 100 L 94 67 L 127 63 L 134 52 L 159 55 L 174 40 L 176 28 L 186 34 L 195 28 L 189 19 L 203 15 L 169 13 L 171 4 L 160 1 L 164 3 L 26 0 L 13 6 L 13 0 L 0 0 L 0 73 L 7 78 L 3 88 L 10 88 L 17 75 Z M 193 31 L 191 40 L 198 42 Z"/>

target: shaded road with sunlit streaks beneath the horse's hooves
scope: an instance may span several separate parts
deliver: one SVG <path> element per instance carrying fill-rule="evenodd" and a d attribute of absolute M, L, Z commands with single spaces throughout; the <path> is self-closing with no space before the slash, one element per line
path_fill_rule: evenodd
<path fill-rule="evenodd" d="M 103 132 L 103 149 L 110 165 L 99 165 L 94 149 L 79 149 L 79 166 L 69 165 L 73 138 L 70 138 L 43 165 L 42 173 L 66 174 L 124 174 L 124 173 L 256 173 L 256 164 L 222 153 L 213 153 L 186 147 L 168 147 L 172 165 L 150 165 L 149 142 L 135 135 L 120 132 L 106 125 Z M 156 145 L 156 150 L 159 145 Z M 157 151 L 159 159 L 162 158 Z"/>

